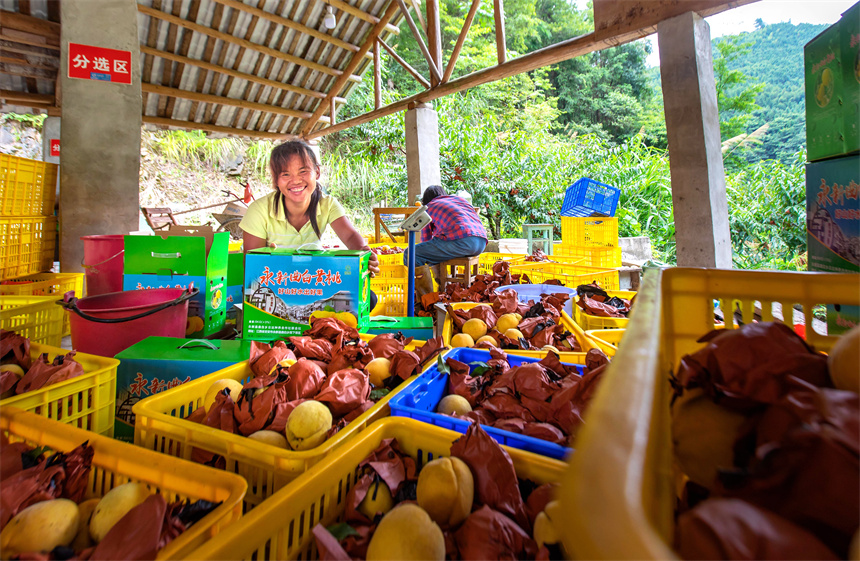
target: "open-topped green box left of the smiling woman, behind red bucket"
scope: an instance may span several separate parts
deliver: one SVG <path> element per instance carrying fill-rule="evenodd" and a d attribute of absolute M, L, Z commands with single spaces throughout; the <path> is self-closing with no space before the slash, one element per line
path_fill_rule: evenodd
<path fill-rule="evenodd" d="M 157 236 L 125 236 L 123 290 L 187 288 L 187 337 L 205 337 L 224 327 L 227 245 L 230 234 L 211 228 L 173 226 Z"/>

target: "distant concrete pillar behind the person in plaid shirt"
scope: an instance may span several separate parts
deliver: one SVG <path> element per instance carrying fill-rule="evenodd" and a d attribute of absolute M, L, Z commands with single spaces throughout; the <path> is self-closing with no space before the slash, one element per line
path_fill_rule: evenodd
<path fill-rule="evenodd" d="M 409 206 L 421 199 L 424 189 L 442 184 L 439 116 L 423 103 L 406 112 L 406 179 Z"/>

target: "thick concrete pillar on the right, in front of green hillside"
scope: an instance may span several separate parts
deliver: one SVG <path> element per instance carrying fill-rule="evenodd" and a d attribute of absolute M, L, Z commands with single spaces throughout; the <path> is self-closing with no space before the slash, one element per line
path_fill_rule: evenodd
<path fill-rule="evenodd" d="M 660 22 L 678 265 L 732 267 L 720 114 L 707 22 L 688 12 Z"/>

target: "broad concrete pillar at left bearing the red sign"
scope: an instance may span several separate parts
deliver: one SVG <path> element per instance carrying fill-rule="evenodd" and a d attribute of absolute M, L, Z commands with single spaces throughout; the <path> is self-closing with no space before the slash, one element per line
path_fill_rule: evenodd
<path fill-rule="evenodd" d="M 82 271 L 81 236 L 138 229 L 140 48 L 134 0 L 64 0 L 60 36 L 60 268 Z M 131 84 L 69 78 L 69 43 L 131 51 Z"/>

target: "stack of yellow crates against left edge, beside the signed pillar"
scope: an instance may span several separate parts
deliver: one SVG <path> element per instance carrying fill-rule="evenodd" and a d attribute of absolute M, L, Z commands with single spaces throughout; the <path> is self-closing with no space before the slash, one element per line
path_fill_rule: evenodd
<path fill-rule="evenodd" d="M 0 280 L 53 266 L 57 167 L 0 154 Z"/>

